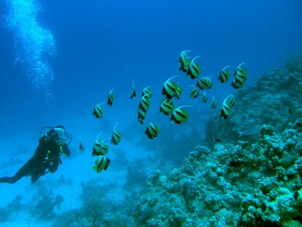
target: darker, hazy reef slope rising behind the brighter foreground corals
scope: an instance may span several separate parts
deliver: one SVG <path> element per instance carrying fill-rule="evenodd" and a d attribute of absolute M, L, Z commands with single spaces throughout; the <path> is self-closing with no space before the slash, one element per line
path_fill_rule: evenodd
<path fill-rule="evenodd" d="M 240 137 L 238 132 L 263 124 L 282 132 L 289 122 L 302 117 L 301 90 L 302 55 L 293 55 L 274 73 L 263 74 L 255 84 L 236 92 L 228 120 L 220 119 L 218 111 L 214 112 L 206 125 L 206 142 L 213 147 L 214 138 L 232 143 L 240 139 L 255 141 L 258 134 Z"/>

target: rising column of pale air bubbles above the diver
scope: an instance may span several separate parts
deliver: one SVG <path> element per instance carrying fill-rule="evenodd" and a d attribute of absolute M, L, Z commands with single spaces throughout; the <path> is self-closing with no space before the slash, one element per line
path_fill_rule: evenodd
<path fill-rule="evenodd" d="M 7 0 L 7 26 L 14 32 L 16 63 L 21 63 L 34 89 L 45 92 L 46 101 L 53 99 L 49 91 L 54 75 L 48 59 L 56 52 L 51 32 L 41 27 L 35 0 Z"/>

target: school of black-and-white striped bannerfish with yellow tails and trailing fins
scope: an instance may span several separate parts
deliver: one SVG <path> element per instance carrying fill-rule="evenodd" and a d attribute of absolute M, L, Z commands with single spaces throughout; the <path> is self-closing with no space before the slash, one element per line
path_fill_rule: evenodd
<path fill-rule="evenodd" d="M 195 58 L 190 61 L 190 57 L 187 56 L 187 52 L 190 52 L 190 50 L 185 50 L 180 53 L 179 56 L 179 69 L 180 71 L 187 74 L 187 76 L 191 79 L 197 79 L 199 77 L 199 74 L 201 73 L 200 66 L 198 63 L 194 62 L 197 58 L 200 58 L 200 56 L 195 56 Z M 234 73 L 234 78 L 232 80 L 231 85 L 235 89 L 242 88 L 244 86 L 245 81 L 247 80 L 247 70 L 242 66 L 244 63 L 240 64 Z M 224 67 L 218 77 L 218 81 L 221 83 L 226 83 L 229 81 L 230 78 L 230 72 L 226 70 L 231 66 Z M 175 108 L 173 104 L 173 98 L 180 99 L 181 93 L 183 91 L 182 87 L 179 86 L 178 83 L 175 83 L 172 79 L 177 78 L 179 76 L 174 76 L 166 80 L 166 82 L 163 84 L 163 90 L 162 90 L 162 96 L 164 97 L 161 100 L 160 103 L 160 112 L 164 115 L 171 115 L 170 121 L 181 124 L 188 121 L 189 114 L 184 109 L 184 107 L 192 107 L 190 105 L 181 105 L 177 108 Z M 193 87 L 192 91 L 190 92 L 191 98 L 197 98 L 201 93 L 202 102 L 207 101 L 207 94 L 204 92 L 206 89 L 210 89 L 212 87 L 212 77 L 202 77 L 199 80 L 197 80 L 196 85 L 190 85 Z M 131 95 L 130 98 L 133 99 L 136 97 L 136 91 L 134 87 L 134 82 L 132 81 L 132 87 L 131 87 Z M 138 122 L 140 124 L 143 124 L 146 113 L 150 109 L 150 98 L 152 98 L 152 90 L 150 89 L 151 86 L 147 86 L 142 90 L 141 97 L 139 99 L 138 104 Z M 107 98 L 107 105 L 112 106 L 113 100 L 114 100 L 114 89 L 111 89 Z M 202 90 L 199 93 L 199 90 Z M 100 104 L 97 104 L 94 107 L 93 110 L 93 116 L 95 118 L 102 118 L 104 115 L 104 109 L 102 107 L 103 104 L 106 102 L 102 102 Z M 220 117 L 223 119 L 228 119 L 230 116 L 231 107 L 235 104 L 235 98 L 234 96 L 228 95 L 222 102 L 221 110 L 220 110 Z M 214 97 L 212 97 L 211 101 L 211 108 L 214 109 L 216 107 L 216 100 Z M 97 156 L 98 158 L 95 161 L 95 165 L 93 166 L 93 169 L 100 173 L 102 170 L 106 171 L 110 164 L 110 159 L 106 156 L 106 154 L 109 151 L 109 145 L 105 144 L 105 141 L 110 140 L 110 143 L 112 145 L 118 145 L 121 142 L 121 133 L 116 129 L 118 122 L 115 124 L 114 129 L 112 131 L 111 140 L 110 138 L 106 138 L 104 140 L 100 140 L 99 135 L 97 136 L 97 139 L 93 145 L 92 149 L 92 156 Z M 150 122 L 145 130 L 145 135 L 149 139 L 153 139 L 154 137 L 157 137 L 160 132 L 160 128 Z M 85 147 L 83 146 L 82 138 L 80 137 L 80 146 L 79 149 L 81 152 L 84 151 Z"/>

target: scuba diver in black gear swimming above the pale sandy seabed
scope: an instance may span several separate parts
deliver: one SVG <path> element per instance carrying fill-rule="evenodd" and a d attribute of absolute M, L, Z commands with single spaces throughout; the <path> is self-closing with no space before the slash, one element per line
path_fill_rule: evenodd
<path fill-rule="evenodd" d="M 46 133 L 43 129 L 49 128 Z M 57 171 L 59 164 L 62 163 L 60 155 L 64 153 L 70 156 L 68 144 L 71 143 L 72 137 L 67 133 L 63 126 L 43 127 L 41 138 L 36 148 L 35 154 L 19 169 L 13 177 L 0 178 L 0 183 L 14 184 L 25 176 L 31 176 L 31 182 L 35 183 L 41 176 L 48 172 Z"/>

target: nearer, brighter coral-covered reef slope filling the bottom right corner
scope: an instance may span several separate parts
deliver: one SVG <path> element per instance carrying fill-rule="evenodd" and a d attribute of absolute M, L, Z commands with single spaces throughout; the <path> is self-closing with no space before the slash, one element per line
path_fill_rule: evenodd
<path fill-rule="evenodd" d="M 301 226 L 302 133 L 290 126 L 280 135 L 264 126 L 255 143 L 198 146 L 169 175 L 156 171 L 135 224 Z"/>

